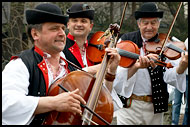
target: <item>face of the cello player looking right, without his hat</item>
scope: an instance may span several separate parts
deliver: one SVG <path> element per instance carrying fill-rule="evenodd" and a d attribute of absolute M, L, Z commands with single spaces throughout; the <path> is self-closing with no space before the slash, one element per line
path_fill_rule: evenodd
<path fill-rule="evenodd" d="M 42 30 L 35 31 L 33 38 L 35 45 L 47 53 L 61 52 L 66 43 L 65 25 L 61 23 L 46 22 Z"/>

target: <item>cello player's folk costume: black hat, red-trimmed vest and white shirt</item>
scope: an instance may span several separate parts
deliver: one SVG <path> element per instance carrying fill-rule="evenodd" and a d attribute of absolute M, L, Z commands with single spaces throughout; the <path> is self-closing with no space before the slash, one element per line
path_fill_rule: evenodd
<path fill-rule="evenodd" d="M 39 4 L 35 9 L 26 10 L 28 24 L 58 22 L 66 25 L 68 17 L 54 4 Z M 2 72 L 2 124 L 37 125 L 44 114 L 34 116 L 39 98 L 46 96 L 48 88 L 59 78 L 75 70 L 60 52 L 59 73 L 53 75 L 48 58 L 51 55 L 38 47 L 25 50 L 13 56 Z M 11 73 L 10 73 L 11 71 Z"/>

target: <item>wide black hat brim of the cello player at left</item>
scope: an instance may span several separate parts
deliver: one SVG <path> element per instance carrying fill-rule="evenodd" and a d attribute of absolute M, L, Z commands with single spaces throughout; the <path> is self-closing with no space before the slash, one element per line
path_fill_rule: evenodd
<path fill-rule="evenodd" d="M 26 21 L 28 24 L 40 24 L 44 22 L 56 22 L 67 25 L 68 16 L 56 15 L 40 10 L 26 10 Z"/>

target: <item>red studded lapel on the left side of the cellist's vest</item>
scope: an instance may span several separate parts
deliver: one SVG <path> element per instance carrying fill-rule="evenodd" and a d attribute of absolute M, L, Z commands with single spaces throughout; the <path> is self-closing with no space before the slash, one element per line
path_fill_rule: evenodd
<path fill-rule="evenodd" d="M 48 69 L 47 69 L 47 65 L 45 60 L 43 59 L 42 62 L 40 62 L 38 64 L 38 67 L 40 68 L 40 70 L 42 71 L 42 74 L 44 76 L 45 79 L 45 83 L 46 83 L 46 95 L 48 93 L 48 88 L 49 88 L 49 78 L 48 78 Z"/>

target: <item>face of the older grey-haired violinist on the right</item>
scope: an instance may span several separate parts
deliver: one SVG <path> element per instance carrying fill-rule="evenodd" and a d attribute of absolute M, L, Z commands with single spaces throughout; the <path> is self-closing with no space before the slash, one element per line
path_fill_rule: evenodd
<path fill-rule="evenodd" d="M 141 35 L 145 39 L 151 39 L 158 32 L 160 21 L 158 18 L 141 18 L 137 22 L 140 29 Z"/>

